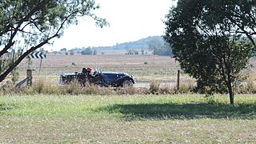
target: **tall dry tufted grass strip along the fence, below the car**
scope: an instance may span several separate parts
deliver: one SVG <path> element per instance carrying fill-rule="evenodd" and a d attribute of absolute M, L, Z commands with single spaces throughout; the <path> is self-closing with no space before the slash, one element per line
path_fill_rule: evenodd
<path fill-rule="evenodd" d="M 185 85 L 180 86 L 177 90 L 173 86 L 162 86 L 157 80 L 150 82 L 149 88 L 138 88 L 129 86 L 122 87 L 106 87 L 86 83 L 86 86 L 81 86 L 78 81 L 70 82 L 69 85 L 56 85 L 47 81 L 45 78 L 39 77 L 34 79 L 32 86 L 14 87 L 13 85 L 2 86 L 0 92 L 2 94 L 99 94 L 99 95 L 113 95 L 113 94 L 188 94 L 193 90 L 193 87 Z"/>

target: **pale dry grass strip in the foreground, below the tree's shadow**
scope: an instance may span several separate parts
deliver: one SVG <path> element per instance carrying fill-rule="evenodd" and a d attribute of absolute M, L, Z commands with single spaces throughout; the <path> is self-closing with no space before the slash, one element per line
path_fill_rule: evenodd
<path fill-rule="evenodd" d="M 3 143 L 255 143 L 255 121 L 2 117 Z M 16 123 L 15 123 L 16 122 Z M 11 125 L 14 124 L 14 125 Z M 4 130 L 4 131 L 3 131 Z"/>

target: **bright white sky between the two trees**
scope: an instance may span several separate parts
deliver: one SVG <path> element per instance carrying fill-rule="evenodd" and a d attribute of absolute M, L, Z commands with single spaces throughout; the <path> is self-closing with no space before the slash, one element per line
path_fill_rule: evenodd
<path fill-rule="evenodd" d="M 106 18 L 110 26 L 95 26 L 91 18 L 81 18 L 77 26 L 70 26 L 61 38 L 54 39 L 46 50 L 67 50 L 75 47 L 114 46 L 134 42 L 149 36 L 163 35 L 165 15 L 173 0 L 95 0 L 100 8 L 95 14 Z"/>

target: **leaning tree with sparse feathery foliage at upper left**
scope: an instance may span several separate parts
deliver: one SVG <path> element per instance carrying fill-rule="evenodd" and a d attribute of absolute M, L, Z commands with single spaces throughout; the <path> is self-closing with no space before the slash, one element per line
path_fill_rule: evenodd
<path fill-rule="evenodd" d="M 0 82 L 30 52 L 59 38 L 63 30 L 90 17 L 106 26 L 94 11 L 94 0 L 4 0 L 0 1 Z"/>

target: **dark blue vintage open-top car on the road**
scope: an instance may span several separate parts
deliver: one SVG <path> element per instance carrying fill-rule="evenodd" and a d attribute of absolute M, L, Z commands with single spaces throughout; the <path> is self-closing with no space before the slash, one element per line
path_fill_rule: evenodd
<path fill-rule="evenodd" d="M 78 80 L 82 86 L 86 82 L 90 82 L 100 86 L 132 86 L 135 81 L 134 77 L 130 74 L 120 72 L 102 72 L 101 70 L 94 70 L 93 74 L 90 73 L 72 73 L 60 74 L 60 82 L 62 84 L 69 84 L 70 82 Z"/>

